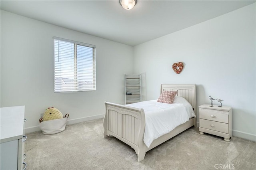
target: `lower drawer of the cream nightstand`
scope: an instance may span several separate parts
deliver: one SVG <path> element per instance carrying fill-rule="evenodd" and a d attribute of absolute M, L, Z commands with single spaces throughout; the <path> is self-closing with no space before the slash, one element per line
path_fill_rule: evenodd
<path fill-rule="evenodd" d="M 211 130 L 228 133 L 228 124 L 227 123 L 208 121 L 208 120 L 204 120 L 204 119 L 199 119 L 199 123 L 200 123 L 200 127 L 202 127 L 202 128 L 208 128 Z"/>

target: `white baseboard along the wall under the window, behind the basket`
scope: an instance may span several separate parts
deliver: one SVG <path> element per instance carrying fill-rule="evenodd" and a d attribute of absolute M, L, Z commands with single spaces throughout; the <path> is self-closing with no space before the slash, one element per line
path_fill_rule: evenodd
<path fill-rule="evenodd" d="M 101 119 L 101 118 L 104 118 L 104 114 L 90 116 L 90 117 L 82 117 L 82 118 L 78 118 L 78 119 L 71 119 L 71 120 L 68 120 L 66 125 L 72 125 L 72 124 L 76 124 L 76 123 L 80 123 L 80 122 L 92 121 L 92 120 Z M 30 132 L 40 131 L 41 129 L 39 128 L 39 126 L 34 126 L 34 127 L 24 128 L 24 130 L 25 130 L 25 134 L 26 134 L 26 133 L 30 133 Z"/>

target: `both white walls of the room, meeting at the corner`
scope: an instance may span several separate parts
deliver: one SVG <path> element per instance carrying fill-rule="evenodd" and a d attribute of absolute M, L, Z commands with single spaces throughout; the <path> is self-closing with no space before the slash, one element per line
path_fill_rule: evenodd
<path fill-rule="evenodd" d="M 96 91 L 53 92 L 53 36 L 96 45 Z M 0 105 L 26 106 L 26 132 L 39 130 L 39 113 L 51 106 L 72 123 L 95 119 L 104 101 L 124 103 L 124 73 L 146 73 L 148 100 L 161 83 L 196 83 L 198 106 L 209 95 L 223 99 L 234 136 L 255 140 L 255 41 L 255 3 L 135 47 L 1 10 Z M 177 61 L 185 64 L 179 75 Z"/>

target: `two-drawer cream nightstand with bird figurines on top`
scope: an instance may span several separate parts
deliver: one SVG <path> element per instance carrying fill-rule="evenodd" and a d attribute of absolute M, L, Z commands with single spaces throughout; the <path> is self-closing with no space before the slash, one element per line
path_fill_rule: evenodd
<path fill-rule="evenodd" d="M 232 107 L 199 106 L 199 133 L 221 136 L 229 142 L 232 138 Z"/>

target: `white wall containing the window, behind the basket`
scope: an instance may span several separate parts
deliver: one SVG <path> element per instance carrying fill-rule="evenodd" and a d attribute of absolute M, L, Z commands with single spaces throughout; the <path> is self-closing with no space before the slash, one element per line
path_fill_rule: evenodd
<path fill-rule="evenodd" d="M 53 36 L 96 45 L 96 91 L 54 93 Z M 70 121 L 103 117 L 104 101 L 124 103 L 133 48 L 1 10 L 1 107 L 25 105 L 26 132 L 51 106 Z M 76 120 L 78 119 L 78 120 Z"/>

